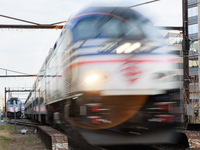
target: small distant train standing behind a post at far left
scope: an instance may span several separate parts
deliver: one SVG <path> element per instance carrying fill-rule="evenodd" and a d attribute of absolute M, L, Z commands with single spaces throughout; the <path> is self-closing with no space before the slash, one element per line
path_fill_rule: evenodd
<path fill-rule="evenodd" d="M 16 104 L 15 110 L 14 110 L 14 103 Z M 12 97 L 7 100 L 7 117 L 8 118 L 14 118 L 14 111 L 16 112 L 16 118 L 21 117 L 21 100 L 17 97 Z"/>

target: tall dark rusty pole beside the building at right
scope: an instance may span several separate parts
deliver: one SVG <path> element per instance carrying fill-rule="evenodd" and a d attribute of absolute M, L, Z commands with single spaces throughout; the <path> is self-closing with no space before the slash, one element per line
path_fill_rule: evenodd
<path fill-rule="evenodd" d="M 187 105 L 189 104 L 189 37 L 188 37 L 188 0 L 182 0 L 183 10 L 183 101 L 184 124 L 188 123 Z"/>

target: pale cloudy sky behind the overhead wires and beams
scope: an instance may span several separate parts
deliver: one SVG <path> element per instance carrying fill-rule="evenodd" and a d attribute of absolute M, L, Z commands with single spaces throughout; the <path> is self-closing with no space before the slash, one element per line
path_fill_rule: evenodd
<path fill-rule="evenodd" d="M 147 1 L 150 0 L 0 0 L 0 15 L 50 24 L 65 21 L 88 6 L 132 6 Z M 160 0 L 133 9 L 155 26 L 182 26 L 182 0 Z M 0 24 L 28 23 L 0 17 Z M 0 68 L 37 74 L 60 32 L 59 29 L 0 29 Z M 0 69 L 0 75 L 5 74 L 5 70 Z M 14 73 L 8 71 L 7 74 Z M 0 93 L 4 94 L 5 87 L 32 87 L 34 80 L 33 77 L 0 78 Z"/>

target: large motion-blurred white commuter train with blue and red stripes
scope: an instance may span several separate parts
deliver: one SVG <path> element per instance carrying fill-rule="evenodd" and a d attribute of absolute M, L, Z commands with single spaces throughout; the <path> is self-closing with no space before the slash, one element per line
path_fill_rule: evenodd
<path fill-rule="evenodd" d="M 68 124 L 77 138 L 96 145 L 174 142 L 180 64 L 176 49 L 143 15 L 89 7 L 63 26 L 25 114 Z"/>

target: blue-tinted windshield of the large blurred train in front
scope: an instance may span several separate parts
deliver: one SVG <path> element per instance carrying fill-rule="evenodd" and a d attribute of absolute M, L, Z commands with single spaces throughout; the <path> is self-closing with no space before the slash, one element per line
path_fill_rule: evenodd
<path fill-rule="evenodd" d="M 111 16 L 87 17 L 77 23 L 74 32 L 76 41 L 94 38 L 160 38 L 151 22 L 138 21 L 133 17 L 127 20 Z"/>

